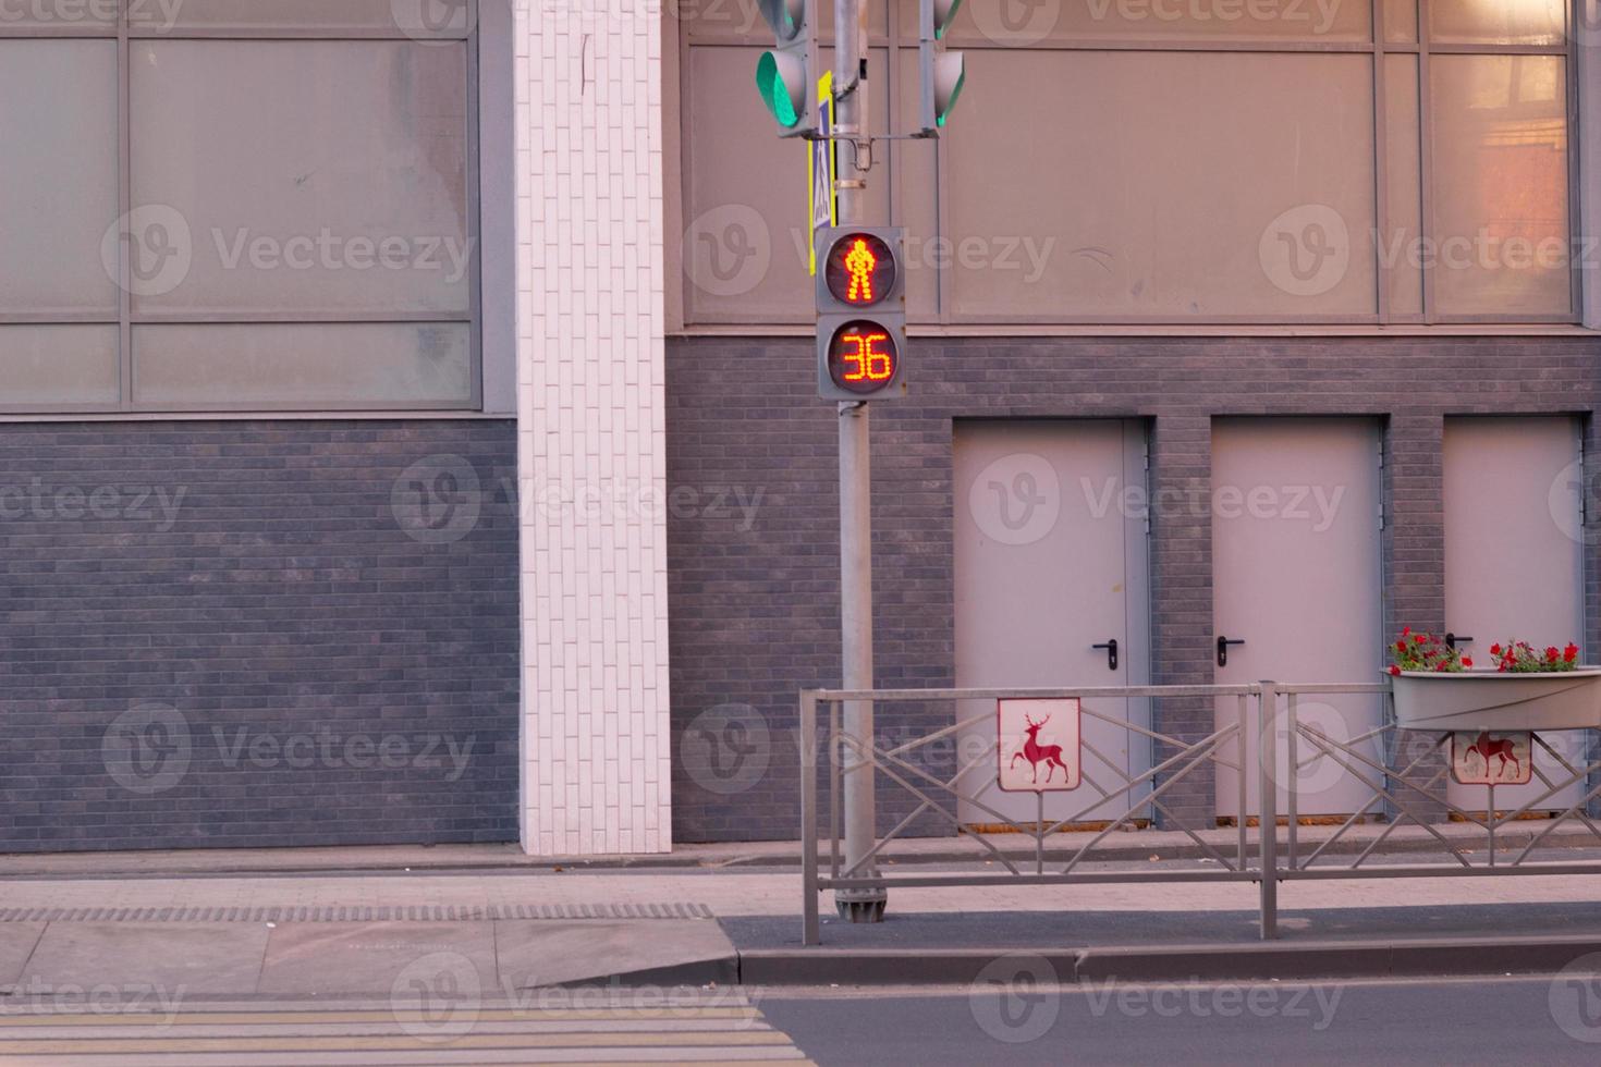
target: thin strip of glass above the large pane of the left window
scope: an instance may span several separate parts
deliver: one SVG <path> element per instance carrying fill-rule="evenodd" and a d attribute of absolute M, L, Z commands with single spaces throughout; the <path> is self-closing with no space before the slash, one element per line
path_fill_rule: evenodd
<path fill-rule="evenodd" d="M 139 0 L 128 21 L 136 32 L 365 30 L 447 40 L 469 32 L 475 16 L 469 0 Z"/>

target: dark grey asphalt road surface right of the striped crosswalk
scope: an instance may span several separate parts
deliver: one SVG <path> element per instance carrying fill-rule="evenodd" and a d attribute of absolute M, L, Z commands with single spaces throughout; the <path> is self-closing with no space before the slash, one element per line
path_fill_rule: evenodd
<path fill-rule="evenodd" d="M 1601 1062 L 1601 979 L 757 992 L 831 1064 Z"/>

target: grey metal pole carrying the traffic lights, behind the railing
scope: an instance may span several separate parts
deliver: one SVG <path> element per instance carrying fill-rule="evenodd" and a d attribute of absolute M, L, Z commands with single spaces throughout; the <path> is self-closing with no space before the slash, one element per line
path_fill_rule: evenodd
<path fill-rule="evenodd" d="M 863 222 L 863 187 L 868 83 L 865 58 L 868 14 L 863 0 L 834 0 L 834 85 L 842 96 L 834 102 L 834 122 L 844 134 L 839 160 L 839 226 Z M 871 152 L 871 149 L 866 149 Z M 868 157 L 869 160 L 871 157 Z M 855 400 L 839 405 L 839 614 L 844 686 L 873 688 L 873 461 L 868 440 L 868 405 Z M 869 750 L 873 745 L 873 702 L 845 704 L 845 733 Z M 845 869 L 860 864 L 877 841 L 873 798 L 871 760 L 836 750 L 834 758 L 847 758 L 845 792 Z M 855 773 L 852 766 L 857 766 Z M 874 877 L 877 865 L 858 870 L 855 877 Z M 876 923 L 884 918 L 889 894 L 873 889 L 836 889 L 834 907 L 841 918 L 853 923 Z"/>

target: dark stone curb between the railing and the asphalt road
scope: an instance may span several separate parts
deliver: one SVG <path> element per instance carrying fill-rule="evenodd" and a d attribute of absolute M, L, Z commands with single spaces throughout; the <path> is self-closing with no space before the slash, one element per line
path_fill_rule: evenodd
<path fill-rule="evenodd" d="M 1569 937 L 1271 941 L 1095 949 L 749 949 L 573 985 L 972 985 L 1004 982 L 997 961 L 1041 960 L 1061 984 L 1271 982 L 1553 974 L 1601 952 L 1601 933 Z"/>

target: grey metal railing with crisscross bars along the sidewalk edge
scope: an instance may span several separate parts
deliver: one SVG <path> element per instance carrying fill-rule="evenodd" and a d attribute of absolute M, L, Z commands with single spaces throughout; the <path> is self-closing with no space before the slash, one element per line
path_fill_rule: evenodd
<path fill-rule="evenodd" d="M 1300 704 L 1303 696 L 1353 694 L 1385 697 L 1385 713 L 1380 725 L 1362 734 L 1337 739 L 1311 723 L 1302 721 Z M 1194 686 L 1117 686 L 1117 688 L 1052 688 L 1052 689 L 805 689 L 800 693 L 800 841 L 802 841 L 802 942 L 815 945 L 820 942 L 818 894 L 826 889 L 877 889 L 877 888 L 946 888 L 946 886 L 993 886 L 993 885 L 1106 885 L 1106 883 L 1196 883 L 1196 881 L 1252 881 L 1260 888 L 1262 936 L 1278 936 L 1278 893 L 1279 881 L 1319 880 L 1319 878 L 1372 878 L 1372 877 L 1441 877 L 1441 875 L 1500 875 L 1500 873 L 1601 873 L 1601 862 L 1529 862 L 1531 853 L 1547 843 L 1551 832 L 1569 819 L 1577 819 L 1595 835 L 1601 845 L 1601 827 L 1587 814 L 1591 800 L 1601 795 L 1601 785 L 1587 789 L 1582 800 L 1566 806 L 1545 825 L 1511 862 L 1500 862 L 1495 854 L 1497 832 L 1523 817 L 1545 800 L 1556 797 L 1563 789 L 1575 781 L 1585 781 L 1601 771 L 1601 760 L 1585 758 L 1579 765 L 1564 758 L 1545 739 L 1535 734 L 1540 744 L 1563 768 L 1566 777 L 1550 779 L 1539 768 L 1535 773 L 1547 785 L 1545 793 L 1521 805 L 1516 811 L 1497 814 L 1494 805 L 1494 787 L 1489 787 L 1489 805 L 1481 819 L 1473 811 L 1452 805 L 1446 797 L 1449 782 L 1449 765 L 1441 765 L 1431 758 L 1438 755 L 1449 733 L 1425 742 L 1426 750 L 1399 765 L 1391 766 L 1382 757 L 1375 758 L 1362 750 L 1362 745 L 1378 744 L 1385 737 L 1394 737 L 1393 709 L 1388 705 L 1390 686 L 1386 683 L 1314 683 L 1292 685 L 1262 681 L 1255 685 L 1194 685 Z M 954 760 L 954 774 L 943 774 L 921 765 L 916 757 L 929 745 L 959 739 L 964 733 L 986 721 L 994 721 L 996 712 L 986 710 L 981 715 L 957 715 L 954 721 L 930 734 L 901 742 L 887 742 L 879 737 L 855 737 L 842 726 L 842 709 L 847 702 L 882 704 L 929 704 L 964 701 L 1005 701 L 1005 699 L 1212 699 L 1233 697 L 1233 713 L 1220 715 L 1220 725 L 1204 737 L 1178 737 L 1159 733 L 1148 726 L 1108 715 L 1092 707 L 1081 705 L 1085 720 L 1106 723 L 1111 728 L 1129 731 L 1130 737 L 1140 737 L 1153 749 L 1150 768 L 1135 773 L 1132 768 L 1119 768 L 1117 760 L 1100 750 L 1095 744 L 1081 739 L 1081 789 L 1089 789 L 1090 795 L 1082 798 L 1073 814 L 1045 819 L 1044 793 L 1036 793 L 1034 822 L 1026 824 L 1005 814 L 988 798 L 996 787 L 996 755 L 999 737 L 978 747 L 970 757 L 961 752 Z M 1282 710 L 1281 710 L 1282 701 Z M 1249 766 L 1249 731 L 1252 728 L 1250 704 L 1257 705 L 1257 766 Z M 828 728 L 823 734 L 825 744 L 818 742 L 820 709 L 826 707 Z M 1220 707 L 1226 707 L 1220 704 Z M 1223 721 L 1223 720 L 1228 721 Z M 1407 731 L 1415 734 L 1417 731 Z M 1425 731 L 1426 733 L 1426 731 Z M 1439 733 L 1439 731 L 1433 731 Z M 1310 752 L 1302 757 L 1303 749 Z M 818 779 L 820 752 L 828 753 L 828 862 L 823 865 L 820 848 L 820 811 L 818 811 Z M 1588 750 L 1587 750 L 1588 752 Z M 1093 765 L 1090 765 L 1093 758 Z M 1289 769 L 1287 781 L 1281 782 L 1278 768 Z M 1297 789 L 1298 771 L 1318 763 L 1332 760 L 1343 774 L 1364 784 L 1370 795 L 1354 806 L 1343 824 L 1329 837 L 1308 849 L 1300 833 L 1300 797 Z M 1183 821 L 1172 817 L 1172 808 L 1164 798 L 1183 781 L 1190 779 L 1199 768 L 1228 768 L 1234 771 L 1234 801 L 1238 805 L 1238 825 L 1231 846 L 1218 848 L 1206 840 Z M 1250 771 L 1255 769 L 1257 781 L 1257 848 L 1250 848 L 1250 813 L 1249 782 Z M 969 784 L 975 773 L 980 784 Z M 849 867 L 841 856 L 841 822 L 844 816 L 845 781 L 853 774 L 869 774 L 877 785 L 882 779 L 906 793 L 916 801 L 911 809 L 884 835 L 877 837 L 873 846 Z M 1286 792 L 1286 825 L 1281 841 L 1278 800 L 1279 790 Z M 1065 795 L 1065 793 L 1057 793 Z M 965 824 L 959 814 L 959 805 L 967 803 L 973 811 L 994 819 L 983 830 Z M 1388 824 L 1372 841 L 1366 845 L 1348 864 L 1332 862 L 1337 846 L 1345 840 L 1364 816 L 1374 814 L 1378 808 L 1386 816 Z M 1452 840 L 1433 824 L 1433 816 L 1449 813 L 1463 822 L 1481 825 L 1489 837 L 1487 859 L 1479 862 L 1459 841 Z M 900 838 L 922 817 L 933 817 L 949 822 L 957 835 L 973 838 L 981 845 L 977 853 L 988 867 L 988 873 L 932 872 L 917 873 L 901 867 L 895 872 L 879 870 L 874 864 L 884 854 L 885 846 Z M 1098 830 L 1074 833 L 1074 846 L 1068 849 L 1066 861 L 1047 857 L 1045 841 L 1053 835 L 1079 825 L 1093 816 Z M 1095 848 L 1108 835 L 1130 827 L 1142 817 L 1167 817 L 1175 829 L 1183 830 L 1198 846 L 1201 854 L 1214 861 L 1215 867 L 1196 869 L 1156 869 L 1138 865 L 1117 869 L 1089 869 L 1095 862 Z M 1383 843 L 1391 838 L 1396 829 L 1406 822 L 1423 827 L 1434 843 L 1451 856 L 1454 862 L 1444 864 L 1383 864 L 1372 861 L 1383 853 Z M 1017 854 L 997 848 L 989 841 L 991 833 L 1012 833 L 1031 840 L 1028 854 Z M 1082 841 L 1082 843 L 1077 843 Z M 1282 845 L 1282 848 L 1281 848 Z M 1001 870 L 996 870 L 999 867 Z M 1263 872 L 1271 872 L 1265 877 Z"/>

